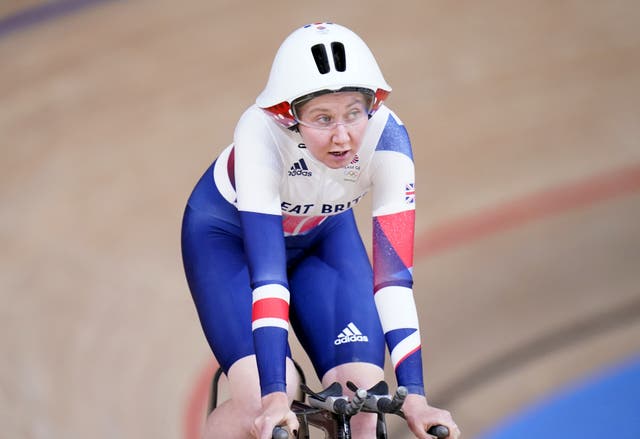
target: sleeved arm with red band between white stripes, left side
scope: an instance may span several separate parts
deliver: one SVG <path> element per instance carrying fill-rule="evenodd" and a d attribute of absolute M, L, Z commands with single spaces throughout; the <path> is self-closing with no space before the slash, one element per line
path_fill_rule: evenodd
<path fill-rule="evenodd" d="M 262 112 L 234 135 L 237 206 L 253 294 L 252 330 L 263 396 L 285 391 L 289 289 L 279 184 L 282 162 Z"/>

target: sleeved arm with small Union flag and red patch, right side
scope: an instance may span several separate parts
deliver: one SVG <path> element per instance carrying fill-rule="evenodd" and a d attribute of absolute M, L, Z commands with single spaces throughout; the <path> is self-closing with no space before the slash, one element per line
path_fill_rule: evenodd
<path fill-rule="evenodd" d="M 415 171 L 404 126 L 390 113 L 374 154 L 373 267 L 376 307 L 398 384 L 424 395 L 413 298 Z"/>

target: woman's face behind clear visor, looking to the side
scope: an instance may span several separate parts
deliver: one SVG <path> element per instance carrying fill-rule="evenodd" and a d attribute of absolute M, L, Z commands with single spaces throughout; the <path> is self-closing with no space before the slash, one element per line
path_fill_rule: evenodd
<path fill-rule="evenodd" d="M 298 117 L 309 152 L 329 168 L 343 168 L 360 149 L 368 122 L 367 102 L 358 92 L 324 94 L 298 109 Z"/>

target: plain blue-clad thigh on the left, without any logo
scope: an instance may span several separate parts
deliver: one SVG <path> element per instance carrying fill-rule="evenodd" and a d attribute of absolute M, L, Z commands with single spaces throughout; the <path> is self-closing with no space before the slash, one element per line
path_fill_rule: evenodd
<path fill-rule="evenodd" d="M 182 258 L 200 324 L 225 372 L 252 355 L 251 287 L 242 239 L 223 222 L 187 207 Z"/>

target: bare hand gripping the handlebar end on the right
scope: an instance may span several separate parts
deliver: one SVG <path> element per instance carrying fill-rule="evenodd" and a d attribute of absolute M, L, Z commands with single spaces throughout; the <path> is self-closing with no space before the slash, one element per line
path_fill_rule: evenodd
<path fill-rule="evenodd" d="M 458 439 L 460 429 L 453 421 L 451 413 L 429 406 L 427 399 L 422 395 L 407 395 L 402 411 L 407 419 L 407 425 L 413 434 L 419 439 L 429 439 L 432 436 L 426 431 L 434 425 L 444 425 L 449 429 L 449 439 Z"/>

